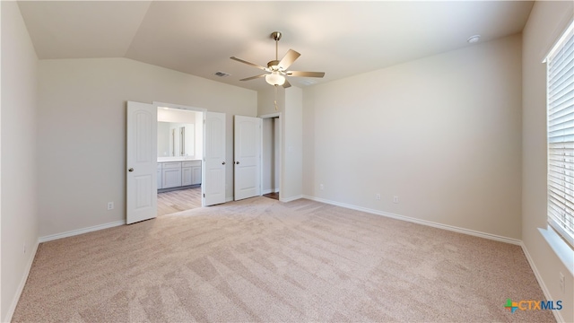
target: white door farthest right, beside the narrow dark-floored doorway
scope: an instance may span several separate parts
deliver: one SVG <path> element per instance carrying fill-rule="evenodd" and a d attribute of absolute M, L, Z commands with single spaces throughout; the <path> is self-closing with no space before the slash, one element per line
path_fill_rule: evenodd
<path fill-rule="evenodd" d="M 261 195 L 261 118 L 235 116 L 234 199 Z"/>

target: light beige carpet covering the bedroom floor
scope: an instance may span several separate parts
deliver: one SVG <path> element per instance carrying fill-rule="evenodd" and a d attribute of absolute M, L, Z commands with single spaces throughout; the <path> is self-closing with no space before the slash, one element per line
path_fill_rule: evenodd
<path fill-rule="evenodd" d="M 15 322 L 551 322 L 518 246 L 270 198 L 42 243 Z"/>

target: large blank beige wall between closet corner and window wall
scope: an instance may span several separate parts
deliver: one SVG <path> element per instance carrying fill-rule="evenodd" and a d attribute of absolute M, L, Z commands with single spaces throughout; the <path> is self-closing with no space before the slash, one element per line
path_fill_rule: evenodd
<path fill-rule="evenodd" d="M 306 89 L 304 194 L 519 240 L 520 62 L 514 35 Z"/>

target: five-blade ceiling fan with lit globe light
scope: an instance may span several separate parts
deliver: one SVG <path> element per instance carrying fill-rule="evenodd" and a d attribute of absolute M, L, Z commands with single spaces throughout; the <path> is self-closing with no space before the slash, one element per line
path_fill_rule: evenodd
<path fill-rule="evenodd" d="M 267 63 L 267 67 L 262 65 L 257 65 L 254 63 L 250 63 L 238 57 L 230 57 L 233 60 L 238 62 L 255 66 L 258 69 L 264 70 L 267 72 L 266 74 L 261 74 L 257 76 L 251 76 L 248 78 L 241 79 L 239 81 L 249 81 L 255 80 L 257 78 L 265 77 L 265 81 L 271 85 L 274 85 L 275 88 L 279 85 L 282 85 L 284 88 L 288 88 L 291 86 L 291 83 L 285 79 L 285 76 L 302 76 L 302 77 L 323 77 L 325 76 L 325 72 L 301 72 L 301 71 L 288 71 L 287 68 L 293 64 L 295 59 L 300 57 L 300 53 L 289 49 L 287 54 L 281 60 L 277 57 L 279 39 L 281 39 L 281 32 L 274 31 L 271 33 L 271 38 L 275 40 L 275 59 Z"/>

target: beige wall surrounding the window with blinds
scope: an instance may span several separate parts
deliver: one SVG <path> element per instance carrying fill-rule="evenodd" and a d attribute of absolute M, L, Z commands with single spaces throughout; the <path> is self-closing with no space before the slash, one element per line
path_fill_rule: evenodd
<path fill-rule="evenodd" d="M 560 314 L 566 322 L 574 322 L 572 275 L 538 228 L 546 228 L 546 65 L 542 61 L 573 11 L 571 1 L 535 3 L 523 31 L 522 65 L 522 240 L 551 299 L 562 300 Z M 566 278 L 565 292 L 559 272 Z"/>

